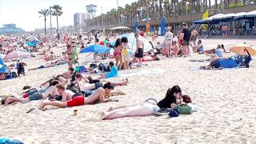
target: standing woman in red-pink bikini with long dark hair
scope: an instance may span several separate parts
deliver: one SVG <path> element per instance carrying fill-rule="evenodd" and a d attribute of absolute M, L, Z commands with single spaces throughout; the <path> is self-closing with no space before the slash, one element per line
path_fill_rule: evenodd
<path fill-rule="evenodd" d="M 121 39 L 118 38 L 117 41 L 114 44 L 114 58 L 115 58 L 115 66 L 118 67 L 118 70 L 121 70 L 121 65 L 122 65 L 122 42 Z"/>

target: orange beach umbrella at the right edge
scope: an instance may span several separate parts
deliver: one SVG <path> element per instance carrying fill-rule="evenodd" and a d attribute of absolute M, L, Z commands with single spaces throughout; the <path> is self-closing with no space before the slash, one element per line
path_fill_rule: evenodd
<path fill-rule="evenodd" d="M 251 46 L 247 43 L 241 43 L 237 44 L 236 46 L 233 46 L 230 48 L 230 51 L 232 51 L 235 54 L 241 54 L 241 55 L 248 55 L 246 50 L 250 53 L 250 55 L 256 54 L 256 49 L 254 46 Z"/>

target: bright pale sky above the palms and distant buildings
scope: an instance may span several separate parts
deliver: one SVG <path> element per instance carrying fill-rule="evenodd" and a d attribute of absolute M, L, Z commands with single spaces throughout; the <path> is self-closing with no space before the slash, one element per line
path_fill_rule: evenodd
<path fill-rule="evenodd" d="M 118 0 L 119 6 L 137 0 Z M 24 30 L 43 28 L 43 18 L 39 18 L 38 10 L 47 9 L 58 4 L 62 6 L 63 14 L 59 18 L 59 26 L 73 25 L 74 13 L 85 13 L 86 5 L 94 4 L 97 7 L 97 15 L 106 13 L 112 8 L 117 8 L 117 0 L 0 0 L 0 27 L 2 24 L 15 23 Z M 50 27 L 50 18 L 46 26 Z M 56 18 L 52 17 L 52 26 L 56 26 Z"/>

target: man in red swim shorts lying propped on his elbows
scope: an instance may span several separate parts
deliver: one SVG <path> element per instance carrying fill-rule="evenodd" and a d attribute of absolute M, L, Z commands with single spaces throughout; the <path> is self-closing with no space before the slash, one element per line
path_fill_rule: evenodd
<path fill-rule="evenodd" d="M 85 98 L 84 96 L 77 96 L 67 102 L 42 102 L 40 109 L 43 110 L 45 106 L 58 106 L 61 108 L 71 106 L 82 106 L 94 104 L 95 102 L 107 102 L 110 100 L 110 92 L 114 90 L 114 86 L 107 82 L 103 88 L 98 88 L 93 94 Z"/>

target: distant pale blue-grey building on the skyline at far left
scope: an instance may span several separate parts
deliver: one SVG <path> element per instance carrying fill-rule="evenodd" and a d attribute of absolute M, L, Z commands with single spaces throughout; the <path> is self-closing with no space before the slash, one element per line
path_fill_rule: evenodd
<path fill-rule="evenodd" d="M 16 24 L 4 24 L 2 28 L 0 28 L 0 34 L 23 34 L 25 30 L 22 28 L 16 27 Z"/>

